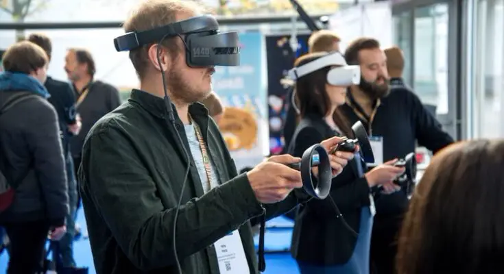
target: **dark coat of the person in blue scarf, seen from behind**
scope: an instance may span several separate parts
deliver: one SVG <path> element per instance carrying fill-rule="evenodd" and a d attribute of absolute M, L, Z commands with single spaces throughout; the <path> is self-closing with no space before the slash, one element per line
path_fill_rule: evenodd
<path fill-rule="evenodd" d="M 15 93 L 0 92 L 0 101 Z M 0 116 L 0 151 L 5 177 L 22 179 L 0 223 L 48 220 L 63 225 L 69 211 L 67 174 L 58 116 L 47 99 L 27 99 Z"/>

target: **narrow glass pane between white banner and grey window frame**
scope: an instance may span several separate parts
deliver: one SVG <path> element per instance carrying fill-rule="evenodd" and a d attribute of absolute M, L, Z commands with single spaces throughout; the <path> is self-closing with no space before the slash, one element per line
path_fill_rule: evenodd
<path fill-rule="evenodd" d="M 411 16 L 412 12 L 403 12 L 394 16 L 394 44 L 403 50 L 405 69 L 403 78 L 411 85 Z"/>

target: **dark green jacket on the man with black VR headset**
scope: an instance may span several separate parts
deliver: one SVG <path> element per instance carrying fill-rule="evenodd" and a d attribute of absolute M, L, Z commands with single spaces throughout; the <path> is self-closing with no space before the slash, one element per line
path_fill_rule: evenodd
<path fill-rule="evenodd" d="M 174 106 L 173 106 L 174 108 Z M 82 151 L 82 201 L 98 274 L 178 273 L 173 220 L 187 164 L 191 165 L 178 212 L 176 245 L 182 271 L 219 273 L 213 243 L 239 229 L 250 273 L 257 273 L 250 219 L 266 219 L 298 203 L 256 200 L 246 175 L 238 175 L 219 129 L 200 103 L 189 108 L 202 128 L 221 186 L 204 194 L 182 122 L 169 125 L 163 99 L 133 90 L 121 107 L 91 129 Z M 178 130 L 183 144 L 176 136 Z M 253 225 L 253 224 L 252 224 Z"/>

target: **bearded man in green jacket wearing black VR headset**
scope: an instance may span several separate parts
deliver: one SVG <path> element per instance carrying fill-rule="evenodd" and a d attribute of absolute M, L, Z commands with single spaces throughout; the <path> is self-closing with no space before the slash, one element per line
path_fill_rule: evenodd
<path fill-rule="evenodd" d="M 97 273 L 257 273 L 248 220 L 307 200 L 292 192 L 302 182 L 285 165 L 300 161 L 291 155 L 237 175 L 196 103 L 211 91 L 213 66 L 239 64 L 238 34 L 218 27 L 191 1 L 144 1 L 115 39 L 118 51 L 130 51 L 141 90 L 84 142 L 79 175 Z M 332 156 L 333 175 L 352 156 Z"/>

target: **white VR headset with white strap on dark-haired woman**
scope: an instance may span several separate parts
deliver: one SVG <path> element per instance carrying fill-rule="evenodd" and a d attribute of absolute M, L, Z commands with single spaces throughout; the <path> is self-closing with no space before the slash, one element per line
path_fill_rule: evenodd
<path fill-rule="evenodd" d="M 304 75 L 313 73 L 326 66 L 338 66 L 327 73 L 327 82 L 333 86 L 352 86 L 361 82 L 361 69 L 359 66 L 348 66 L 341 53 L 335 51 L 328 53 L 324 57 L 313 60 L 308 64 L 291 69 L 287 73 L 287 78 L 296 81 Z"/>

